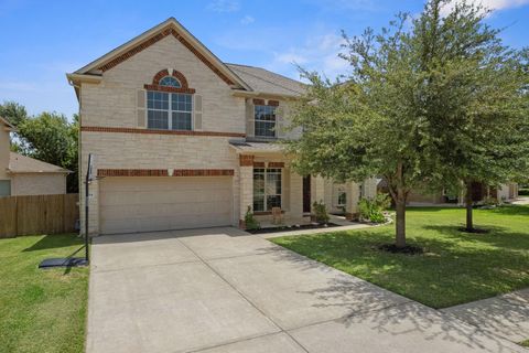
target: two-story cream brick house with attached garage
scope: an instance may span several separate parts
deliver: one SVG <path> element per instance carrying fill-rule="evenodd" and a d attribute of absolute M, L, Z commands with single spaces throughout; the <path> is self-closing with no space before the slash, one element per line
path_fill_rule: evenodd
<path fill-rule="evenodd" d="M 299 136 L 282 127 L 304 86 L 223 63 L 173 18 L 67 77 L 79 100 L 80 182 L 95 156 L 90 233 L 244 226 L 248 206 L 261 220 L 280 207 L 302 221 L 314 201 L 350 214 L 360 193 L 376 193 L 374 180 L 298 175 L 273 142 Z"/>

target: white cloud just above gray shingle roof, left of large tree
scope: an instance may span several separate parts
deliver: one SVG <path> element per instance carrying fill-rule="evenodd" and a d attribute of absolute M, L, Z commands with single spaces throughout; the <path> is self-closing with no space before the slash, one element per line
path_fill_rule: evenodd
<path fill-rule="evenodd" d="M 348 63 L 338 57 L 344 39 L 335 33 L 310 38 L 301 46 L 290 47 L 282 53 L 274 53 L 267 68 L 283 75 L 299 78 L 296 65 L 309 71 L 317 71 L 334 79 L 347 74 Z"/>

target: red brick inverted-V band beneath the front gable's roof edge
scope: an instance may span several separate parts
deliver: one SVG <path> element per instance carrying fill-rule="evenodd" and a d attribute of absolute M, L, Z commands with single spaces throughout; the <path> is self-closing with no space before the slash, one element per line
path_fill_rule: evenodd
<path fill-rule="evenodd" d="M 203 62 L 207 67 L 209 67 L 209 69 L 212 69 L 226 84 L 234 85 L 234 82 L 231 79 L 229 79 L 225 74 L 223 74 L 217 67 L 215 67 L 201 52 L 198 52 L 190 42 L 187 42 L 182 35 L 180 35 L 176 32 L 176 30 L 173 29 L 172 26 L 169 26 L 169 28 L 162 30 L 161 32 L 159 32 L 158 34 L 144 40 L 143 42 L 139 43 L 138 45 L 136 45 L 133 47 L 131 47 L 130 50 L 122 53 L 121 55 L 116 56 L 115 58 L 112 58 L 111 61 L 106 63 L 105 65 L 99 66 L 98 68 L 102 72 L 106 72 L 106 71 L 121 64 L 122 62 L 125 62 L 129 57 L 131 57 L 131 56 L 140 53 L 141 51 L 148 49 L 152 44 L 163 40 L 168 35 L 173 35 L 176 40 L 179 40 L 185 47 L 187 47 L 187 50 L 190 50 L 193 54 L 195 54 L 195 56 L 198 57 L 198 60 L 201 62 Z"/>

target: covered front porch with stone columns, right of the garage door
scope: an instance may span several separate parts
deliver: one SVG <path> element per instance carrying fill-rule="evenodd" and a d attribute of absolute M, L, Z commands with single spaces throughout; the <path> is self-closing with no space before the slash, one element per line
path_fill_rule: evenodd
<path fill-rule="evenodd" d="M 354 220 L 368 183 L 335 183 L 321 176 L 300 175 L 291 167 L 281 145 L 231 141 L 239 158 L 239 226 L 246 227 L 250 207 L 261 227 L 311 223 L 314 202 L 323 202 L 338 224 Z M 376 188 L 374 189 L 376 193 Z M 278 211 L 280 210 L 280 214 Z M 272 214 L 273 211 L 273 214 Z"/>

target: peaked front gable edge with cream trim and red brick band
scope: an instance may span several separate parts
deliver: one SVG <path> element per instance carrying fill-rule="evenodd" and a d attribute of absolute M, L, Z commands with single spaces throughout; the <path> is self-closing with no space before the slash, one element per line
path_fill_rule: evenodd
<path fill-rule="evenodd" d="M 234 88 L 251 90 L 251 88 L 239 76 L 237 76 L 236 73 L 234 73 L 217 56 L 215 56 L 174 18 L 170 18 L 149 31 L 136 36 L 123 45 L 118 46 L 88 65 L 77 69 L 74 74 L 101 75 L 104 72 L 111 69 L 129 57 L 140 53 L 141 51 L 169 35 L 172 35 L 180 41 L 226 84 Z"/>

